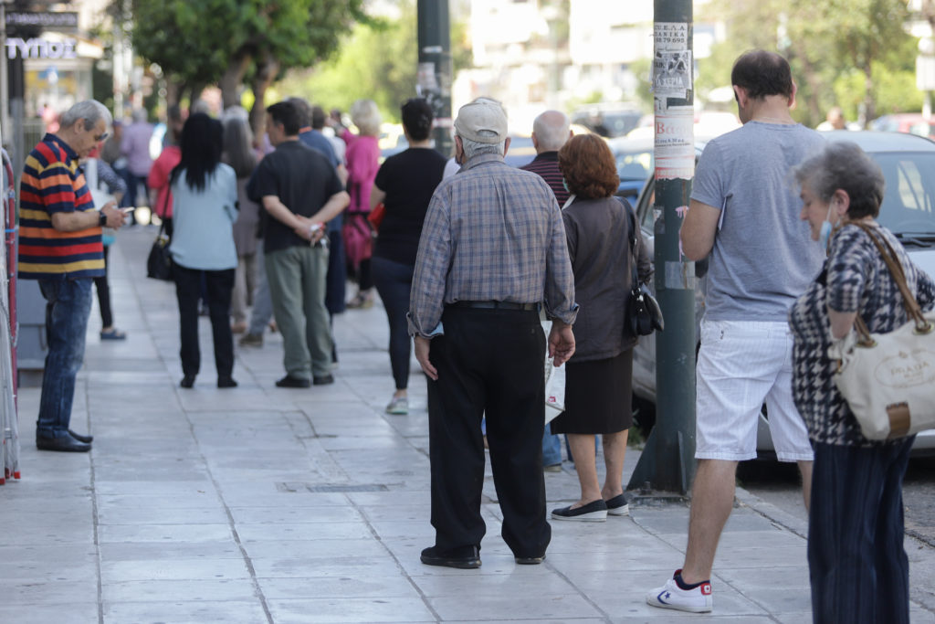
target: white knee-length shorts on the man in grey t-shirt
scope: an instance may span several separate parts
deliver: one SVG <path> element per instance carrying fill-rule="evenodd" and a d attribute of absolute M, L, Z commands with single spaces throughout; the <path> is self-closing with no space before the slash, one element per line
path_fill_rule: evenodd
<path fill-rule="evenodd" d="M 780 461 L 812 460 L 808 431 L 792 400 L 792 336 L 786 323 L 701 321 L 697 368 L 698 459 L 756 457 L 767 405 Z"/>

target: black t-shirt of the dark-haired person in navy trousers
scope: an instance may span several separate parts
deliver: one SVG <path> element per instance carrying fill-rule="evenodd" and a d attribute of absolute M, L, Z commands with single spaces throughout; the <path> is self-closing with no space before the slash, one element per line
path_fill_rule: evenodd
<path fill-rule="evenodd" d="M 414 265 L 428 202 L 445 170 L 445 158 L 431 148 L 410 148 L 387 158 L 374 183 L 386 193 L 386 213 L 373 254 Z"/>

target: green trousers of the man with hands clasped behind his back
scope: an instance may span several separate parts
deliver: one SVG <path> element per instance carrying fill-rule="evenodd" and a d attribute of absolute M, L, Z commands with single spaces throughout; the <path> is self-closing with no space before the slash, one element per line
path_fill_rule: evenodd
<path fill-rule="evenodd" d="M 282 334 L 286 372 L 296 379 L 331 371 L 331 329 L 324 307 L 328 250 L 289 247 L 266 254 L 266 280 Z"/>

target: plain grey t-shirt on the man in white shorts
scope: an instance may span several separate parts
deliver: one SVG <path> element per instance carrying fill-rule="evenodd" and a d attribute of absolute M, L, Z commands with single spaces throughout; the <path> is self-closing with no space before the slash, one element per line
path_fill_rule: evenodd
<path fill-rule="evenodd" d="M 818 274 L 825 254 L 798 218 L 790 169 L 824 144 L 801 124 L 748 122 L 705 147 L 692 199 L 721 210 L 706 318 L 784 322 Z"/>

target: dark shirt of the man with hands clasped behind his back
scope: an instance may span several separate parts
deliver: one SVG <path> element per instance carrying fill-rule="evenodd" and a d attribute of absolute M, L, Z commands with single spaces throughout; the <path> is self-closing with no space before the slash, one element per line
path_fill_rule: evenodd
<path fill-rule="evenodd" d="M 264 196 L 274 195 L 286 208 L 304 217 L 322 210 L 331 196 L 343 190 L 327 157 L 299 141 L 285 141 L 275 152 L 266 154 L 247 184 L 247 195 L 261 206 Z M 264 239 L 266 254 L 309 244 L 271 216 L 266 218 Z"/>

